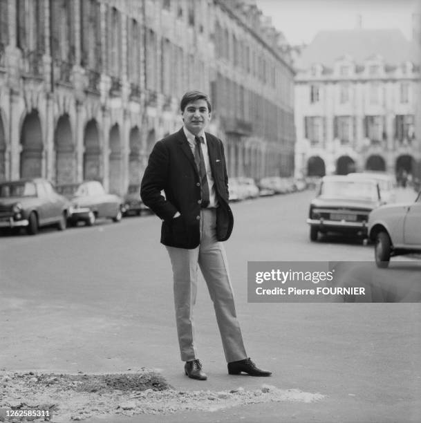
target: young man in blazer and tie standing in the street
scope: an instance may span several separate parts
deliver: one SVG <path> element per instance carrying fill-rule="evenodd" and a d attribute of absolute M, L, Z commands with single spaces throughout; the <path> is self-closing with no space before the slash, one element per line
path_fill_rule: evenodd
<path fill-rule="evenodd" d="M 234 219 L 228 205 L 223 143 L 205 133 L 211 117 L 209 97 L 189 91 L 180 102 L 180 110 L 183 128 L 153 147 L 140 196 L 162 219 L 160 241 L 167 247 L 174 274 L 178 343 L 185 374 L 192 379 L 207 379 L 194 342 L 193 308 L 200 267 L 214 303 L 228 373 L 269 376 L 270 372 L 257 368 L 247 358 L 236 317 L 221 243 L 230 237 Z"/>

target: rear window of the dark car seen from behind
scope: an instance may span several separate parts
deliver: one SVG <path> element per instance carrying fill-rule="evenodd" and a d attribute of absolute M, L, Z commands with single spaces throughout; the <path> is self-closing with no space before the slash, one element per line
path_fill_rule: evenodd
<path fill-rule="evenodd" d="M 320 196 L 323 198 L 353 198 L 356 200 L 377 200 L 376 185 L 357 181 L 324 181 Z"/>

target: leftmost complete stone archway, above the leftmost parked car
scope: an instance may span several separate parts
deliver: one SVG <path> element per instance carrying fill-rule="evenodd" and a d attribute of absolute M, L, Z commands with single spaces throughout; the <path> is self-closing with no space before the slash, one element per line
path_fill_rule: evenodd
<path fill-rule="evenodd" d="M 21 129 L 20 177 L 37 178 L 42 176 L 42 142 L 41 122 L 36 110 L 26 115 Z"/>

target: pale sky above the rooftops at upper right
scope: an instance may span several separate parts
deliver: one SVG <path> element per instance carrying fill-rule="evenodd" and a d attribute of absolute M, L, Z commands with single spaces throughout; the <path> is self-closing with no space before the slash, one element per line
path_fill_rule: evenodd
<path fill-rule="evenodd" d="M 256 0 L 263 15 L 283 32 L 289 44 L 309 44 L 319 30 L 399 28 L 412 37 L 412 15 L 421 0 Z M 421 17 L 419 17 L 421 19 Z"/>

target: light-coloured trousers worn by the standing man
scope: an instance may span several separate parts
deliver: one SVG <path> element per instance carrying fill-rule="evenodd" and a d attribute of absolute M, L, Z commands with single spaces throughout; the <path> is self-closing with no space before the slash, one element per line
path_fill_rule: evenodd
<path fill-rule="evenodd" d="M 193 309 L 198 266 L 214 303 L 227 362 L 247 358 L 234 305 L 234 295 L 223 244 L 216 241 L 216 210 L 200 212 L 200 245 L 192 250 L 167 247 L 174 274 L 174 303 L 181 359 L 198 358 L 194 344 Z"/>

